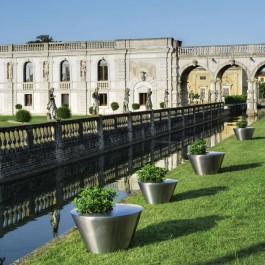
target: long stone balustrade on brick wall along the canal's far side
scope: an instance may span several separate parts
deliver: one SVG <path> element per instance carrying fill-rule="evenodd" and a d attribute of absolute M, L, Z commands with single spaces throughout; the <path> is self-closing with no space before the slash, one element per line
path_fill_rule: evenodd
<path fill-rule="evenodd" d="M 223 117 L 212 103 L 0 128 L 0 181 Z"/>

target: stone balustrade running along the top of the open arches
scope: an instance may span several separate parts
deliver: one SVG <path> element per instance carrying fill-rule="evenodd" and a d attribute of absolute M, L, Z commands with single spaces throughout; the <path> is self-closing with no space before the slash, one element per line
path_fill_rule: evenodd
<path fill-rule="evenodd" d="M 265 44 L 187 46 L 178 48 L 179 57 L 185 56 L 227 56 L 227 55 L 264 55 Z"/>

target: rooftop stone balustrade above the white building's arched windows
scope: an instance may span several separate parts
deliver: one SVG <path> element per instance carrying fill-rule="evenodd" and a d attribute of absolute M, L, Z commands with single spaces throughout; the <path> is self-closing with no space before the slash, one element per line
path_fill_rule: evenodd
<path fill-rule="evenodd" d="M 78 41 L 0 45 L 0 52 L 115 49 L 115 41 Z"/>

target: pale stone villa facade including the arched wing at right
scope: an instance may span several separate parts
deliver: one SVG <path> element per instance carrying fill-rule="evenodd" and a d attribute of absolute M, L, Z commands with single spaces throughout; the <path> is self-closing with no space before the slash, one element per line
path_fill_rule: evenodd
<path fill-rule="evenodd" d="M 144 110 L 148 91 L 153 109 L 160 108 L 165 91 L 168 107 L 186 106 L 193 72 L 200 69 L 207 80 L 204 102 L 223 100 L 224 90 L 226 94 L 246 91 L 248 112 L 256 113 L 264 44 L 180 44 L 173 38 L 157 38 L 0 45 L 0 115 L 14 114 L 18 103 L 33 115 L 46 115 L 52 87 L 56 105 L 68 104 L 73 114 L 89 113 L 96 89 L 100 114 L 112 113 L 114 101 L 123 106 L 126 88 L 129 110 L 133 103 Z M 228 73 L 235 69 L 238 74 L 231 79 Z M 120 107 L 117 112 L 122 111 Z"/>

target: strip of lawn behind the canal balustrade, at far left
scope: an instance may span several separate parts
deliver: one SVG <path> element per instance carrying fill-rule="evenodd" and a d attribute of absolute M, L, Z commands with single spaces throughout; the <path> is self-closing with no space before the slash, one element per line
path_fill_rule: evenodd
<path fill-rule="evenodd" d="M 71 119 L 86 118 L 85 115 L 74 115 Z M 47 122 L 47 116 L 32 116 L 32 119 L 29 123 L 16 122 L 16 117 L 12 115 L 0 116 L 0 127 L 9 127 L 9 126 L 18 126 L 25 124 L 34 124 Z"/>

